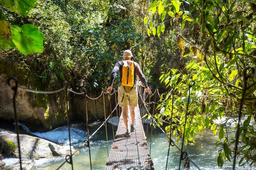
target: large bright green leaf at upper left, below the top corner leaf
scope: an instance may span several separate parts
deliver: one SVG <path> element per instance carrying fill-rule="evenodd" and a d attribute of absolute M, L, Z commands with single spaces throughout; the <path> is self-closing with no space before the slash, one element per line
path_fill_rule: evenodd
<path fill-rule="evenodd" d="M 24 24 L 21 28 L 11 26 L 12 41 L 22 54 L 42 53 L 44 35 L 38 27 L 31 24 Z"/>

